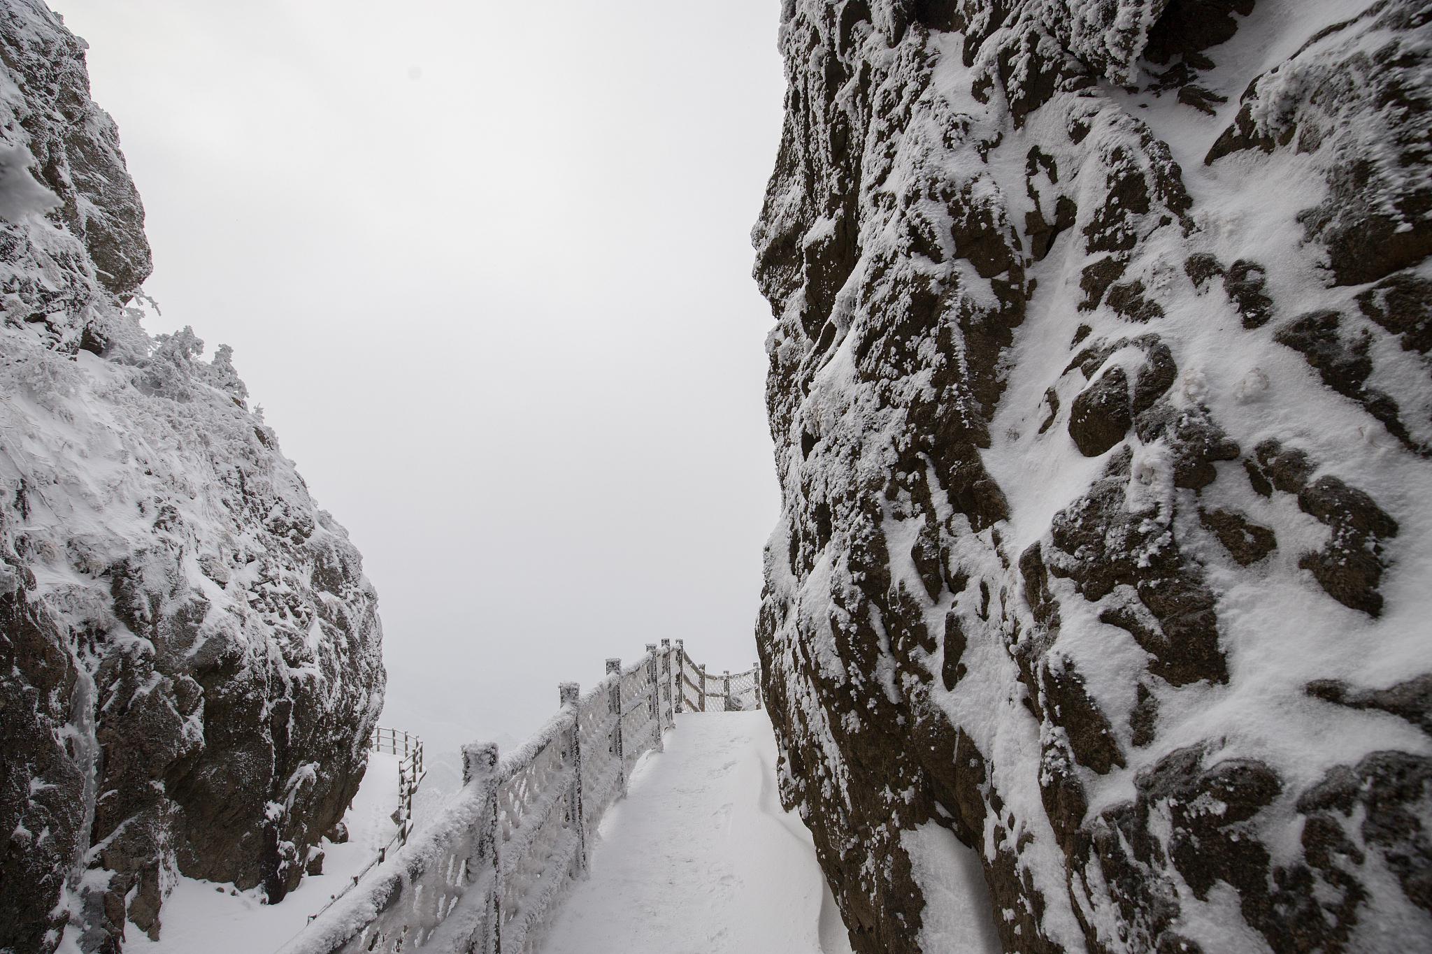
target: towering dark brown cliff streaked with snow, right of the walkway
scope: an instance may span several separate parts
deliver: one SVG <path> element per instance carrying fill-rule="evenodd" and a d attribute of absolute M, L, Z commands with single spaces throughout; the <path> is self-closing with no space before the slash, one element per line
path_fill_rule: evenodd
<path fill-rule="evenodd" d="M 1432 945 L 1429 19 L 785 0 L 758 641 L 856 950 Z"/>

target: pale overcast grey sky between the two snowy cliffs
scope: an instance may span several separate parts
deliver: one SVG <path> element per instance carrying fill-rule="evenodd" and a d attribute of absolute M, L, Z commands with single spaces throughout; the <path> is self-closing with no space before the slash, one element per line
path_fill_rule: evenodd
<path fill-rule="evenodd" d="M 364 554 L 385 721 L 524 734 L 660 636 L 749 665 L 778 0 L 52 6 L 145 200 L 150 332 L 233 345 Z"/>

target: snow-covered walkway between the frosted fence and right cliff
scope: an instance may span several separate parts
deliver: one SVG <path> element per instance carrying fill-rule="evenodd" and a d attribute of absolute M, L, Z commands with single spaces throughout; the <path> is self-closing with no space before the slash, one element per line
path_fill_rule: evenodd
<path fill-rule="evenodd" d="M 544 954 L 848 954 L 765 711 L 686 712 L 601 821 Z"/>

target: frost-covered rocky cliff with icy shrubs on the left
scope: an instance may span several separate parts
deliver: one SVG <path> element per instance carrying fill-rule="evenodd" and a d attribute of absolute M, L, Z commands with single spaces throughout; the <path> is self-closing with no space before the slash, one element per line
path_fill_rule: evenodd
<path fill-rule="evenodd" d="M 0 950 L 115 951 L 176 872 L 278 900 L 362 777 L 377 598 L 221 348 L 150 339 L 83 43 L 0 4 Z M 73 948 L 69 948 L 73 950 Z"/>

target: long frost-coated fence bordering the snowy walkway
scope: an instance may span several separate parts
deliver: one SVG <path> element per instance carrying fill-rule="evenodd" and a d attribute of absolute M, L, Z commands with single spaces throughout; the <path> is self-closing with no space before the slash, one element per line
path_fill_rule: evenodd
<path fill-rule="evenodd" d="M 662 751 L 676 714 L 760 707 L 759 668 L 709 675 L 682 641 L 646 655 L 586 694 L 560 687 L 561 708 L 516 751 L 463 747 L 463 788 L 359 887 L 341 895 L 281 954 L 410 951 L 524 954 L 574 878 L 589 832 L 626 794 L 646 752 Z"/>

